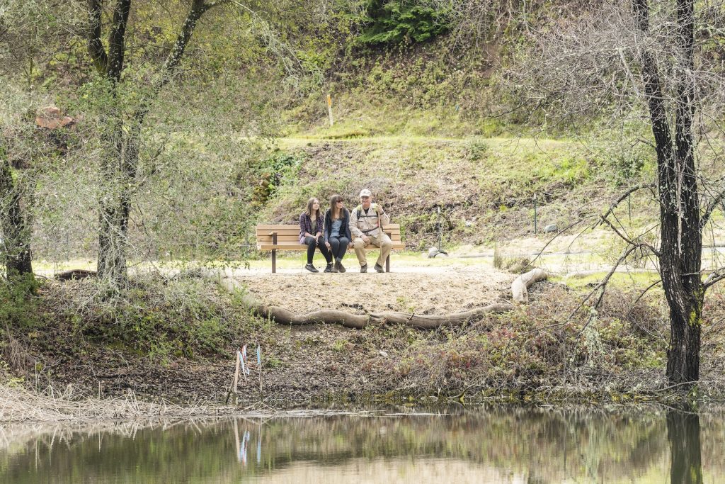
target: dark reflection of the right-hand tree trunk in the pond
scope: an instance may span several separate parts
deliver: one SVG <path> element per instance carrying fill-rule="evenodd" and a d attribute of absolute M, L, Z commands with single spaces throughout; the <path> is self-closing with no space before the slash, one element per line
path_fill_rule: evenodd
<path fill-rule="evenodd" d="M 668 411 L 667 440 L 670 441 L 672 455 L 670 482 L 702 484 L 700 416 L 693 411 Z"/>

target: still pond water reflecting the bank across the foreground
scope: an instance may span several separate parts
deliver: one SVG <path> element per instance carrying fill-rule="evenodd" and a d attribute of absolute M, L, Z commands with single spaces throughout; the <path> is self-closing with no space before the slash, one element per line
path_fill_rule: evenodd
<path fill-rule="evenodd" d="M 0 483 L 725 483 L 723 417 L 394 409 L 0 425 Z"/>

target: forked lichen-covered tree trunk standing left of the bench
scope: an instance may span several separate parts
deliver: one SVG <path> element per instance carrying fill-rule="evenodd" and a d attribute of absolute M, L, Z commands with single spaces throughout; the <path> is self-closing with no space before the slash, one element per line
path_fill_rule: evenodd
<path fill-rule="evenodd" d="M 224 0 L 191 1 L 165 60 L 137 77 L 129 62 L 130 49 L 137 47 L 130 42 L 135 32 L 129 28 L 135 2 L 117 0 L 107 10 L 104 2 L 88 0 L 88 54 L 100 77 L 100 89 L 94 91 L 94 96 L 102 104 L 106 121 L 101 133 L 104 151 L 100 160 L 102 188 L 98 201 L 98 275 L 113 288 L 123 287 L 128 279 L 128 224 L 146 115 L 162 89 L 178 73 L 199 20 L 211 9 L 226 3 Z"/>

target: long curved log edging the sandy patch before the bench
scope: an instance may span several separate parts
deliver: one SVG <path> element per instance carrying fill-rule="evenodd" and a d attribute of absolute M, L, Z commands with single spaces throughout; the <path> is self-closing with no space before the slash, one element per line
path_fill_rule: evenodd
<path fill-rule="evenodd" d="M 218 283 L 229 292 L 243 290 L 239 282 L 231 277 L 221 276 Z M 249 308 L 265 318 L 274 319 L 280 324 L 341 324 L 344 327 L 362 329 L 370 324 L 402 324 L 418 329 L 438 329 L 442 326 L 461 326 L 468 321 L 480 318 L 486 313 L 504 313 L 513 309 L 507 303 L 491 304 L 484 308 L 476 308 L 461 313 L 434 315 L 417 315 L 412 313 L 370 313 L 351 314 L 335 309 L 323 309 L 311 313 L 297 314 L 279 306 L 265 305 L 257 301 L 249 292 L 241 292 L 242 300 Z"/>

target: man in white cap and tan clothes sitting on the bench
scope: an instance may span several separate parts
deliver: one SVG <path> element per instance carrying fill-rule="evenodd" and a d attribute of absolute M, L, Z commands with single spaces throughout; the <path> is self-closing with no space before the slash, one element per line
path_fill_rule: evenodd
<path fill-rule="evenodd" d="M 383 232 L 383 226 L 390 223 L 381 205 L 373 203 L 373 194 L 368 189 L 360 191 L 360 205 L 350 214 L 350 232 L 352 232 L 352 247 L 360 263 L 360 272 L 368 271 L 368 258 L 365 247 L 372 244 L 380 247 L 380 255 L 375 264 L 375 270 L 383 272 L 383 264 L 393 247 L 393 241 Z"/>

